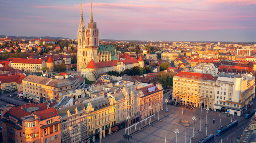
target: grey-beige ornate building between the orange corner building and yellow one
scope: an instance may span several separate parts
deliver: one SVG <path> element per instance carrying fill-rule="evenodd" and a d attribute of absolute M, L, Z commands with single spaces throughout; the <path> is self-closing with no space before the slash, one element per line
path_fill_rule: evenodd
<path fill-rule="evenodd" d="M 57 110 L 60 115 L 61 143 L 81 143 L 88 138 L 87 117 L 83 103 Z"/>

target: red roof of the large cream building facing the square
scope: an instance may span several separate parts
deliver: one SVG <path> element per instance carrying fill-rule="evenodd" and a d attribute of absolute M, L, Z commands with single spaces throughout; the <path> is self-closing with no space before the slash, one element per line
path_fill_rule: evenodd
<path fill-rule="evenodd" d="M 194 79 L 204 79 L 204 80 L 212 80 L 213 76 L 207 73 L 199 73 L 199 72 L 188 72 L 188 71 L 181 71 L 176 74 L 174 77 L 183 77 L 183 78 L 194 78 Z"/>

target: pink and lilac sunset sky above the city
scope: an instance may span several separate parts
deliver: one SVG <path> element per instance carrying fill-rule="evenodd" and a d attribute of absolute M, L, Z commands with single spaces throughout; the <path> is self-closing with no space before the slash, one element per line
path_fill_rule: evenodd
<path fill-rule="evenodd" d="M 77 39 L 86 0 L 1 0 L 0 35 Z M 100 39 L 256 41 L 256 0 L 93 0 Z"/>

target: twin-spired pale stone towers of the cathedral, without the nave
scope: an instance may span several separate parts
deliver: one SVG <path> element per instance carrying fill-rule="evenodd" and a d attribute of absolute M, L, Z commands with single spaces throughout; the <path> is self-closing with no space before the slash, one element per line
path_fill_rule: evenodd
<path fill-rule="evenodd" d="M 96 28 L 96 23 L 93 21 L 93 9 L 91 2 L 90 23 L 86 29 L 83 21 L 83 12 L 81 7 L 80 25 L 77 32 L 78 47 L 77 47 L 77 71 L 80 71 L 83 65 L 91 60 L 98 62 L 98 45 L 99 45 L 99 29 Z"/>

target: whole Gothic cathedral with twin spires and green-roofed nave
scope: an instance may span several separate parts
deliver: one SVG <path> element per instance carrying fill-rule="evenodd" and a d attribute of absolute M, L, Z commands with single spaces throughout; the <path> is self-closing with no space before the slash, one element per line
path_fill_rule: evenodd
<path fill-rule="evenodd" d="M 77 41 L 77 71 L 81 71 L 82 68 L 86 69 L 91 60 L 94 62 L 106 62 L 118 59 L 119 55 L 113 45 L 99 45 L 99 29 L 96 22 L 93 21 L 92 3 L 88 28 L 85 28 L 81 4 Z"/>

